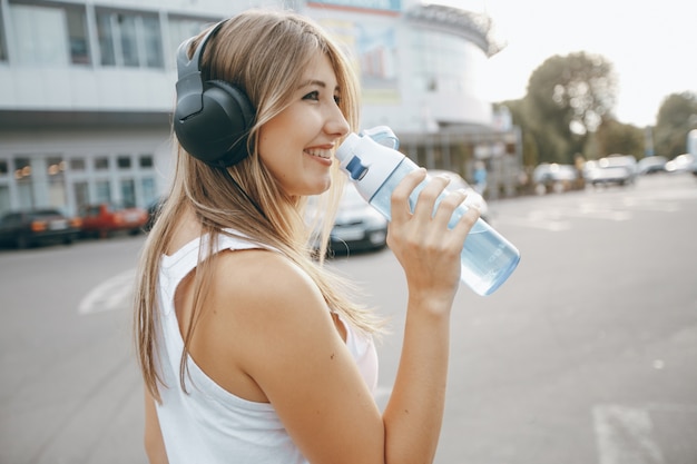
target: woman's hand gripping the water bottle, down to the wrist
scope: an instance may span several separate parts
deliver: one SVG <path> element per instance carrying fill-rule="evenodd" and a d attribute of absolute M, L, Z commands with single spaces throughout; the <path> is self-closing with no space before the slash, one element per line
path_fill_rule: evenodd
<path fill-rule="evenodd" d="M 469 208 L 460 221 L 449 229 L 453 211 L 467 195 L 463 191 L 445 194 L 433 214 L 438 197 L 449 184 L 448 178 L 436 176 L 420 192 L 412 213 L 409 196 L 425 177 L 425 169 L 419 169 L 408 175 L 394 189 L 387 245 L 404 268 L 410 296 L 429 302 L 429 306 L 445 303 L 450 307 L 460 280 L 460 253 L 479 218 L 479 210 Z"/>

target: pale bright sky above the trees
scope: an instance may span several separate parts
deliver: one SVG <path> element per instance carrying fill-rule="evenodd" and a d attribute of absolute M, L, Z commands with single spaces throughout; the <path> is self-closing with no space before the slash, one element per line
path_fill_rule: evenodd
<path fill-rule="evenodd" d="M 424 1 L 425 2 L 425 1 Z M 490 101 L 519 99 L 547 58 L 586 51 L 615 68 L 615 115 L 656 124 L 671 93 L 697 93 L 697 2 L 691 0 L 430 0 L 485 12 L 507 47 L 489 59 Z"/>

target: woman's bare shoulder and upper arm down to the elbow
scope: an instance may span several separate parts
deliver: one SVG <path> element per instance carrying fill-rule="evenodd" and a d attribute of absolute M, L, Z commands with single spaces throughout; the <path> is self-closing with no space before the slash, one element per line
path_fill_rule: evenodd
<path fill-rule="evenodd" d="M 245 250 L 224 253 L 212 284 L 196 328 L 204 369 L 229 392 L 273 404 L 311 462 L 337 450 L 346 462 L 383 456 L 380 411 L 313 279 L 283 255 Z"/>

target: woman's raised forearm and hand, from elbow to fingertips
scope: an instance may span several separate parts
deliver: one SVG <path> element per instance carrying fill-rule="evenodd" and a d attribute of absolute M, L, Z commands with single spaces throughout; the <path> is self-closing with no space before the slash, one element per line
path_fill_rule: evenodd
<path fill-rule="evenodd" d="M 443 421 L 450 312 L 460 280 L 460 253 L 479 214 L 470 209 L 452 230 L 446 224 L 464 194 L 448 196 L 432 216 L 435 198 L 448 184 L 435 178 L 419 196 L 412 214 L 408 198 L 425 171 L 406 177 L 392 196 L 387 243 L 404 268 L 409 300 L 402 356 L 384 412 L 386 462 L 415 456 L 432 462 Z M 418 437 L 414 440 L 414 437 Z"/>

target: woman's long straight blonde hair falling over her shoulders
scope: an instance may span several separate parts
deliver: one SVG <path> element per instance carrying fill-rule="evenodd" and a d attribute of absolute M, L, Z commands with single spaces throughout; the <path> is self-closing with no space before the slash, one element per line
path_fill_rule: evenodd
<path fill-rule="evenodd" d="M 205 32 L 193 41 L 189 55 Z M 177 154 L 174 180 L 140 257 L 135 302 L 138 361 L 146 386 L 158 401 L 159 384 L 163 384 L 156 359 L 159 261 L 173 239 L 178 218 L 186 210 L 195 213 L 202 236 L 213 239 L 208 240 L 209 249 L 199 251 L 195 273 L 194 310 L 184 334 L 180 365 L 183 387 L 188 347 L 196 319 L 203 310 L 215 259 L 215 256 L 212 259 L 202 257 L 213 255 L 219 234 L 230 234 L 225 229 L 253 237 L 255 241 L 283 253 L 307 273 L 327 306 L 356 328 L 376 333 L 381 326 L 372 312 L 346 297 L 351 289 L 347 283 L 323 266 L 328 233 L 344 184 L 337 165 L 332 168 L 332 187 L 321 196 L 316 217 L 308 226 L 304 217 L 306 199 L 284 194 L 256 150 L 259 128 L 289 105 L 306 65 L 317 53 L 324 53 L 332 63 L 340 88 L 340 109 L 351 130 L 355 131 L 359 119 L 356 78 L 337 45 L 308 19 L 287 11 L 248 10 L 227 20 L 206 45 L 202 58 L 203 78 L 224 80 L 244 89 L 256 108 L 256 121 L 249 132 L 249 156 L 227 168 L 248 198 L 220 168 L 195 159 L 176 139 L 173 140 Z M 315 251 L 312 244 L 317 239 L 321 248 Z"/>

